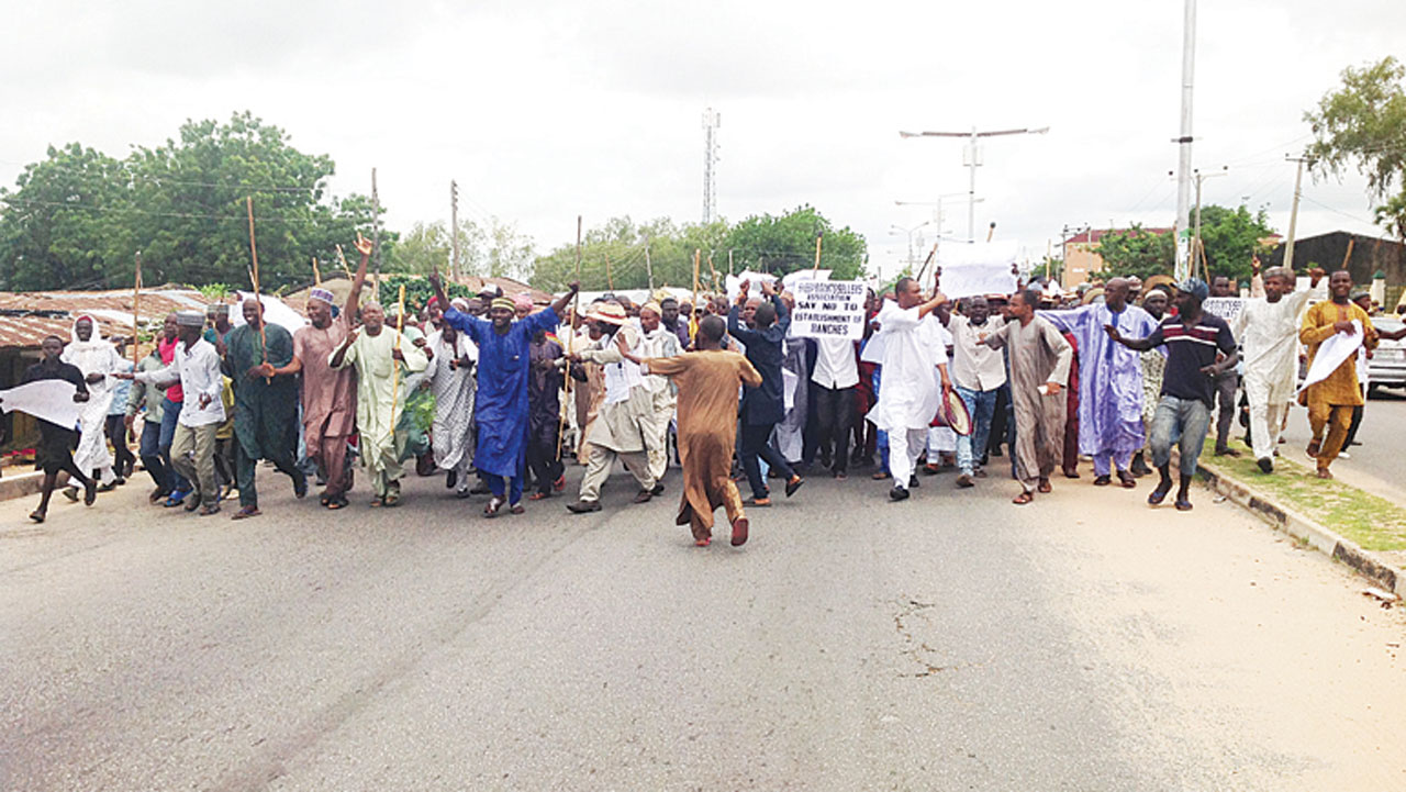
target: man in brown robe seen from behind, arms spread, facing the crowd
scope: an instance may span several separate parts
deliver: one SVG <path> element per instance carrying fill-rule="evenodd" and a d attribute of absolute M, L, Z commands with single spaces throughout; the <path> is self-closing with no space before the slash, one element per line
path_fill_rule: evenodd
<path fill-rule="evenodd" d="M 683 495 L 676 525 L 693 530 L 693 543 L 707 547 L 713 539 L 713 511 L 727 509 L 733 546 L 747 543 L 747 513 L 733 481 L 733 445 L 737 440 L 737 400 L 741 385 L 758 387 L 762 376 L 737 352 L 720 349 L 727 329 L 720 317 L 704 317 L 695 347 L 675 357 L 634 359 L 647 373 L 673 380 L 679 388 L 679 461 Z M 633 359 L 630 353 L 623 353 Z"/>

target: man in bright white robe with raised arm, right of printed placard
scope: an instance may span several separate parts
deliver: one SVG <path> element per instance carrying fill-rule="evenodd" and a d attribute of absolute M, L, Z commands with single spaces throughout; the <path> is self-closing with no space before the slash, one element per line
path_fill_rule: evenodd
<path fill-rule="evenodd" d="M 891 501 L 908 498 L 918 485 L 914 467 L 928 445 L 928 426 L 938 414 L 941 398 L 952 390 L 948 352 L 939 339 L 936 317 L 929 317 L 946 295 L 936 291 L 922 298 L 922 287 L 911 277 L 894 286 L 897 300 L 884 301 L 879 311 L 879 332 L 870 343 L 882 345 L 883 385 L 879 404 L 866 419 L 889 435 L 889 471 L 893 474 Z"/>

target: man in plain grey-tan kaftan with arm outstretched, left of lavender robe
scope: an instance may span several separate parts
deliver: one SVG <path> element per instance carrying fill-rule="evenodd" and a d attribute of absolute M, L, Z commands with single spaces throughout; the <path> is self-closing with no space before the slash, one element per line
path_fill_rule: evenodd
<path fill-rule="evenodd" d="M 1017 505 L 1050 491 L 1050 473 L 1064 456 L 1064 394 L 1074 352 L 1059 329 L 1035 315 L 1038 288 L 1017 291 L 1007 321 L 984 343 L 1007 347 L 1011 362 L 1011 404 L 1015 405 L 1015 477 L 1021 481 Z"/>

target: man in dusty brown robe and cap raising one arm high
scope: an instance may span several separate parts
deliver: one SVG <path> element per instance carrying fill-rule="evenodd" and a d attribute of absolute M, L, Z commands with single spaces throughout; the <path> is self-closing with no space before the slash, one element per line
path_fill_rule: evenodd
<path fill-rule="evenodd" d="M 332 293 L 314 288 L 308 295 L 311 325 L 292 333 L 292 360 L 274 374 L 302 371 L 302 432 L 308 457 L 326 477 L 328 488 L 319 501 L 329 509 L 347 505 L 352 490 L 352 466 L 347 464 L 347 440 L 356 432 L 356 370 L 332 369 L 328 360 L 342 346 L 356 322 L 366 284 L 366 267 L 371 260 L 371 241 L 357 234 L 356 249 L 361 253 L 352 294 L 342 314 L 332 318 Z"/>

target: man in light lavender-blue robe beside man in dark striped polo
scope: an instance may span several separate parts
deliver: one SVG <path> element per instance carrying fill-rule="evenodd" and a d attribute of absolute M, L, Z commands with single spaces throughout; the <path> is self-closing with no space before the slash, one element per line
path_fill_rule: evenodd
<path fill-rule="evenodd" d="M 1112 468 L 1123 487 L 1136 481 L 1128 466 L 1146 439 L 1142 419 L 1142 359 L 1109 340 L 1105 325 L 1125 338 L 1147 338 L 1157 329 L 1152 314 L 1128 302 L 1128 281 L 1104 287 L 1104 302 L 1040 315 L 1078 339 L 1078 450 L 1094 457 L 1094 484 L 1107 485 Z"/>

